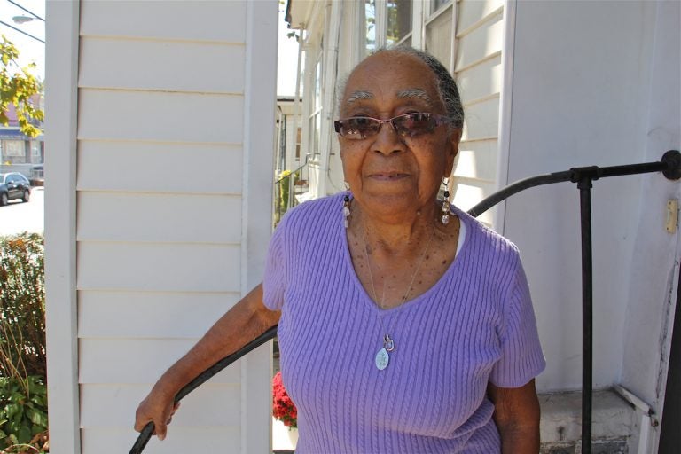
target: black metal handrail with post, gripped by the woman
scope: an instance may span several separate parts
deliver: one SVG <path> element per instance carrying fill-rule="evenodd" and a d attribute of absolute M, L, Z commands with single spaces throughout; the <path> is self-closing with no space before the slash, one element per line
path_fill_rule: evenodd
<path fill-rule="evenodd" d="M 307 162 L 306 162 L 307 164 Z M 638 175 L 645 173 L 661 172 L 669 180 L 681 178 L 681 153 L 677 150 L 669 150 L 664 153 L 658 162 L 648 162 L 643 164 L 632 164 L 626 166 L 614 166 L 599 168 L 581 167 L 571 168 L 565 172 L 556 172 L 541 176 L 532 176 L 514 184 L 506 186 L 499 192 L 495 192 L 487 199 L 468 210 L 470 215 L 477 217 L 497 203 L 506 200 L 517 192 L 525 189 L 562 182 L 577 184 L 580 192 L 580 212 L 582 225 L 582 452 L 591 454 L 591 394 L 592 384 L 592 333 L 593 333 L 593 275 L 591 268 L 591 186 L 595 180 L 607 176 Z M 246 355 L 254 348 L 259 347 L 277 335 L 277 325 L 270 327 L 255 340 L 248 343 L 236 353 L 231 354 L 215 363 L 205 372 L 201 373 L 196 379 L 183 387 L 177 393 L 175 401 L 179 402 L 185 395 L 191 393 L 205 381 L 222 371 L 225 367 Z M 130 454 L 139 454 L 145 449 L 146 443 L 153 434 L 153 422 L 148 423 L 137 437 L 137 442 L 130 450 Z"/>

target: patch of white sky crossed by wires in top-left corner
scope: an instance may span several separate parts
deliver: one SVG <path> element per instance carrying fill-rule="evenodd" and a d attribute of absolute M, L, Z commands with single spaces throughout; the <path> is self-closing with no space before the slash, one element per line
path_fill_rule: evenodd
<path fill-rule="evenodd" d="M 44 0 L 12 0 L 15 4 L 20 4 L 28 11 L 35 13 L 35 15 L 45 19 L 45 1 Z M 45 40 L 45 23 L 43 20 L 35 19 L 17 24 L 12 18 L 23 16 L 26 18 L 33 17 L 30 13 L 21 10 L 8 0 L 0 0 L 0 34 L 4 35 L 7 40 L 11 41 L 19 50 L 21 66 L 27 66 L 31 62 L 35 62 L 37 67 L 34 74 L 41 80 L 45 78 L 45 44 L 41 43 L 20 32 L 15 31 L 12 27 L 19 28 L 29 35 L 34 35 L 36 38 Z M 11 27 L 9 27 L 11 26 Z"/>

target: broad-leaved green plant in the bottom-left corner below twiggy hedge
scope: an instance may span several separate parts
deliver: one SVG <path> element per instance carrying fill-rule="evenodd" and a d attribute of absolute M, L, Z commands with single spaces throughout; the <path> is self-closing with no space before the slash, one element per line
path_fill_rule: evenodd
<path fill-rule="evenodd" d="M 37 452 L 46 432 L 47 387 L 43 378 L 0 377 L 0 448 Z"/>

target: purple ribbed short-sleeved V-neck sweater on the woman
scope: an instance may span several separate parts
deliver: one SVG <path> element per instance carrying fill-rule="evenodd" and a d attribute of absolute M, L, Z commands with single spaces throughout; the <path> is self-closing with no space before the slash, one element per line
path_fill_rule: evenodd
<path fill-rule="evenodd" d="M 516 247 L 454 208 L 466 239 L 450 268 L 379 309 L 352 267 L 342 206 L 342 194 L 304 203 L 270 242 L 264 301 L 282 311 L 296 453 L 500 452 L 488 382 L 521 387 L 545 365 Z M 379 318 L 395 340 L 383 371 Z"/>

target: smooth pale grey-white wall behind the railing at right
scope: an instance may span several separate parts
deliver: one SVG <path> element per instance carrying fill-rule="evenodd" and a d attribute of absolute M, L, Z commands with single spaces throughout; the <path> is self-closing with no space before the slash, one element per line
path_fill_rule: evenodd
<path fill-rule="evenodd" d="M 658 76 L 676 87 L 670 92 L 661 89 L 665 91 L 662 96 L 672 95 L 672 107 L 651 98 L 657 6 L 626 1 L 516 4 L 509 182 L 575 166 L 659 160 L 678 141 L 678 122 L 670 127 L 668 119 L 648 114 L 651 106 L 673 110 L 674 99 L 678 100 L 673 97 L 678 90 L 678 77 L 673 74 Z M 667 28 L 663 34 L 663 39 L 673 40 Z M 665 141 L 651 143 L 649 132 L 662 125 L 670 128 Z M 627 306 L 638 307 L 638 302 L 631 302 L 631 295 L 660 290 L 657 282 L 640 272 L 642 252 L 650 254 L 646 270 L 664 270 L 665 282 L 672 268 L 673 254 L 660 254 L 648 247 L 673 250 L 676 237 L 670 237 L 661 225 L 652 228 L 640 220 L 642 215 L 662 216 L 669 192 L 677 192 L 677 184 L 667 183 L 661 175 L 594 183 L 596 387 L 620 381 L 622 346 L 632 333 L 646 329 L 638 324 L 635 310 L 630 310 L 627 318 Z M 538 387 L 578 388 L 581 243 L 575 184 L 546 186 L 514 196 L 505 210 L 504 232 L 521 248 L 535 299 L 548 362 Z M 634 288 L 637 292 L 632 292 Z M 651 312 L 658 309 L 648 308 Z M 649 335 L 659 335 L 659 330 Z M 650 356 L 658 353 L 654 349 L 646 352 Z"/>

